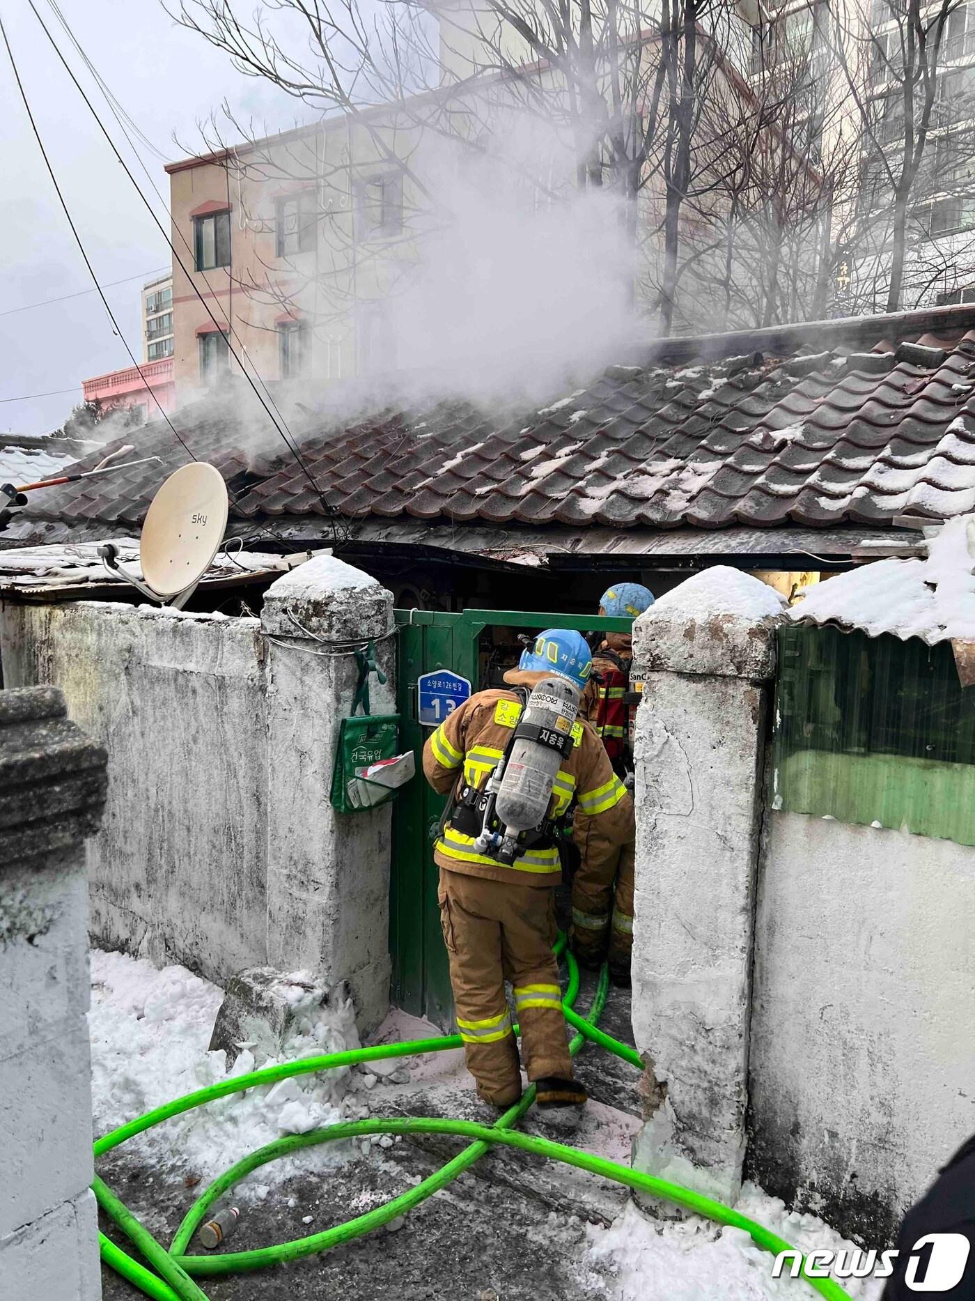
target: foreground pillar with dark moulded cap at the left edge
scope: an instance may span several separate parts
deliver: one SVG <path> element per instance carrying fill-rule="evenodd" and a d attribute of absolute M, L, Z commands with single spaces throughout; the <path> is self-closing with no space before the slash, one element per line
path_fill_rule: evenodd
<path fill-rule="evenodd" d="M 91 1158 L 83 839 L 105 751 L 53 687 L 0 691 L 0 1278 L 4 1296 L 101 1296 Z"/>

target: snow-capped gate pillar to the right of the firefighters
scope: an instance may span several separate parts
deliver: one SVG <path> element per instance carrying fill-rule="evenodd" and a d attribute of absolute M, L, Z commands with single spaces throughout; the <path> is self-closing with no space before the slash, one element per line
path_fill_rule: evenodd
<path fill-rule="evenodd" d="M 634 626 L 633 1032 L 647 1068 L 634 1164 L 734 1200 L 748 1099 L 763 760 L 785 602 L 718 566 Z"/>

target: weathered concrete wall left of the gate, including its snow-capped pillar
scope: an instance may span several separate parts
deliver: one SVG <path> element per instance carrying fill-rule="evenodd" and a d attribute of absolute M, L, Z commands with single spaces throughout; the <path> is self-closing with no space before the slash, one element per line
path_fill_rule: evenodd
<path fill-rule="evenodd" d="M 391 605 L 373 579 L 321 557 L 268 589 L 263 624 L 91 601 L 4 608 L 5 682 L 56 683 L 109 747 L 90 846 L 101 943 L 217 982 L 311 968 L 348 978 L 363 1028 L 382 1019 L 390 809 L 332 809 L 356 666 L 316 639 L 381 637 Z M 373 687 L 372 708 L 391 712 L 393 639 L 377 653 L 389 684 Z"/>

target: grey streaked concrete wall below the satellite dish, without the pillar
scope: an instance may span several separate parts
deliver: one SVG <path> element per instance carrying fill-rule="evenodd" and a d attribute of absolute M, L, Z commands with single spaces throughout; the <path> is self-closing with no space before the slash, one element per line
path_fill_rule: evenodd
<path fill-rule="evenodd" d="M 49 682 L 109 748 L 92 934 L 221 980 L 266 960 L 268 740 L 256 619 L 8 606 L 4 677 Z"/>

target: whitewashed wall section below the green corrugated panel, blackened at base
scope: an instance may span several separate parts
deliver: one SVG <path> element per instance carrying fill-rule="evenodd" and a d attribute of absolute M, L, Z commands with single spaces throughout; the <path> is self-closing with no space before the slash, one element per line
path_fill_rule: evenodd
<path fill-rule="evenodd" d="M 770 813 L 749 1167 L 870 1246 L 975 1131 L 975 850 Z"/>

